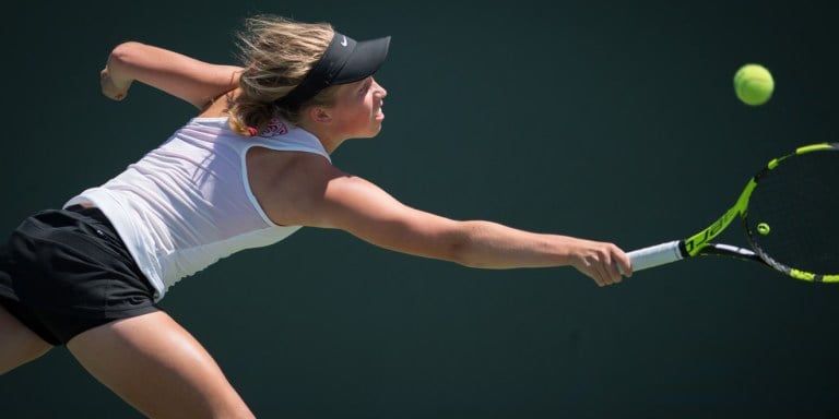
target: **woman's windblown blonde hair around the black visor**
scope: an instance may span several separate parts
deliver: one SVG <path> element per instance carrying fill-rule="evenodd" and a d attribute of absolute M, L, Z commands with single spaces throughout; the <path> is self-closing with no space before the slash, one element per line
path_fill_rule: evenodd
<path fill-rule="evenodd" d="M 237 34 L 245 70 L 239 80 L 241 94 L 229 108 L 231 129 L 252 135 L 262 132 L 275 116 L 298 124 L 306 107 L 333 105 L 335 89 L 330 87 L 294 109 L 274 103 L 303 81 L 334 33 L 328 23 L 300 23 L 273 15 L 247 19 L 244 31 Z"/>

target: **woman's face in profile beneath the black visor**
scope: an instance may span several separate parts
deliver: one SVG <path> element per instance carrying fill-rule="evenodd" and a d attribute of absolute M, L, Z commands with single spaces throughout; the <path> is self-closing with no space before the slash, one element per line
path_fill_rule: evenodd
<path fill-rule="evenodd" d="M 332 111 L 335 128 L 347 137 L 373 137 L 381 131 L 381 106 L 388 91 L 373 76 L 339 86 Z"/>

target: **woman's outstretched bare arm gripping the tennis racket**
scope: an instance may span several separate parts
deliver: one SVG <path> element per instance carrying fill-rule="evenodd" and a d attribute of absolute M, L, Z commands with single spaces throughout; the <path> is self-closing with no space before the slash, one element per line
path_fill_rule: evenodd
<path fill-rule="evenodd" d="M 377 185 L 300 157 L 260 202 L 279 224 L 345 230 L 393 251 L 478 268 L 574 266 L 600 285 L 631 275 L 618 247 L 486 220 L 454 220 L 406 206 Z"/>

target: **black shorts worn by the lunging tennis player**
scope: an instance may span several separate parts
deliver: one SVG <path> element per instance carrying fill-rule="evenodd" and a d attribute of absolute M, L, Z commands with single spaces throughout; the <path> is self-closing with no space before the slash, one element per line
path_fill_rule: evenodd
<path fill-rule="evenodd" d="M 158 311 L 154 292 L 97 208 L 38 213 L 0 243 L 0 306 L 51 345 Z"/>

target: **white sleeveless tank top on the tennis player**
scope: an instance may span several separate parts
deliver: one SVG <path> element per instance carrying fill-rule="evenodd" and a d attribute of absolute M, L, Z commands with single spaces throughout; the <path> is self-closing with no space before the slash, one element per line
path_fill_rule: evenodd
<path fill-rule="evenodd" d="M 299 226 L 277 226 L 250 190 L 245 156 L 253 146 L 329 154 L 311 133 L 273 120 L 255 137 L 227 118 L 193 118 L 159 147 L 64 207 L 92 203 L 110 219 L 159 300 L 168 288 L 222 258 L 275 243 Z"/>

